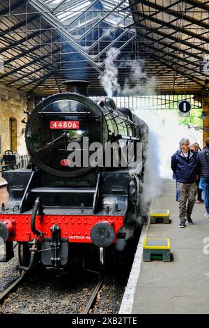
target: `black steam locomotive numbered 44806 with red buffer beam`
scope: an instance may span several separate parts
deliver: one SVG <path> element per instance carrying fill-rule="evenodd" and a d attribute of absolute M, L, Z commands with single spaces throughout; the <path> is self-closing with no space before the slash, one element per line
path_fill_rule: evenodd
<path fill-rule="evenodd" d="M 28 113 L 28 167 L 3 172 L 9 202 L 0 211 L 0 244 L 6 250 L 0 262 L 13 258 L 17 241 L 19 267 L 25 271 L 37 260 L 47 268 L 63 268 L 73 248 L 84 254 L 94 250 L 104 264 L 105 250 L 126 238 L 125 228 L 136 225 L 139 213 L 148 126 L 127 108 L 117 109 L 111 98 L 88 98 L 88 81 L 65 86 L 65 92 L 45 98 Z M 100 148 L 96 154 L 88 147 L 93 142 Z M 123 149 L 132 144 L 132 159 L 137 158 L 139 143 L 136 171 Z M 113 165 L 114 147 L 122 149 L 118 165 Z M 121 164 L 124 158 L 127 165 Z"/>

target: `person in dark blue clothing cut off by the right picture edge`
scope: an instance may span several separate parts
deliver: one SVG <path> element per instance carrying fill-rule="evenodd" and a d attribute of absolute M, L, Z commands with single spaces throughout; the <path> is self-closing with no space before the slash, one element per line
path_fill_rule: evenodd
<path fill-rule="evenodd" d="M 207 211 L 205 216 L 209 218 L 209 137 L 206 138 L 206 146 L 197 155 L 197 165 Z"/>

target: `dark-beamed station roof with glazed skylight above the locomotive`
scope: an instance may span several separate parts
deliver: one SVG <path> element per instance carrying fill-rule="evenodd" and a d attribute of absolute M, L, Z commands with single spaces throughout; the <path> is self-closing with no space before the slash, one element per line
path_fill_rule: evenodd
<path fill-rule="evenodd" d="M 0 82 L 23 91 L 47 96 L 84 79 L 104 94 L 112 47 L 121 87 L 155 80 L 160 93 L 197 94 L 209 83 L 206 0 L 1 0 L 0 15 Z"/>

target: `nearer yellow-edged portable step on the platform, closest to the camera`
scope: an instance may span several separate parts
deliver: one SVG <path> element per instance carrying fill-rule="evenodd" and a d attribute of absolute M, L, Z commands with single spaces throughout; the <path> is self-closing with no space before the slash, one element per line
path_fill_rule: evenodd
<path fill-rule="evenodd" d="M 171 246 L 169 238 L 144 238 L 143 260 L 147 262 L 150 262 L 151 260 L 171 262 L 170 250 Z"/>

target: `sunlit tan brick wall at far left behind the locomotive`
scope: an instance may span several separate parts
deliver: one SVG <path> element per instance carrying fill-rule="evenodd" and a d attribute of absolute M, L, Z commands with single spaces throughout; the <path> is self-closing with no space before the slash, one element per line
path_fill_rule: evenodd
<path fill-rule="evenodd" d="M 15 88 L 7 87 L 0 83 L 0 135 L 1 151 L 10 149 L 10 118 L 17 119 L 17 151 L 20 155 L 26 155 L 26 146 L 24 142 L 23 130 L 25 124 L 21 120 L 25 117 L 24 110 L 27 106 L 27 97 L 24 91 L 18 91 Z"/>

